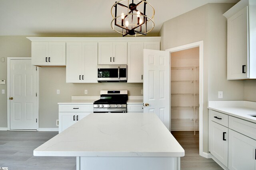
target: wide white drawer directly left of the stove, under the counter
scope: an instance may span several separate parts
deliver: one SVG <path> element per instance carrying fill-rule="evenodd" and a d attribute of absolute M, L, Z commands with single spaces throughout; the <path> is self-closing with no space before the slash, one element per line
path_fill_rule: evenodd
<path fill-rule="evenodd" d="M 59 105 L 59 112 L 93 112 L 93 104 L 62 104 Z"/>

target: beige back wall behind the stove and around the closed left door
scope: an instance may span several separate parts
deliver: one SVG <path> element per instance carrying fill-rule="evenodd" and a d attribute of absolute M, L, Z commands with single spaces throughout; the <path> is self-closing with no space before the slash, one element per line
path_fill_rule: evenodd
<path fill-rule="evenodd" d="M 28 36 L 0 36 L 0 79 L 7 80 L 7 57 L 30 57 L 31 41 Z M 0 84 L 0 90 L 7 91 L 7 86 Z M 56 90 L 60 89 L 60 94 Z M 99 96 L 100 90 L 128 90 L 129 95 L 141 96 L 142 83 L 66 83 L 65 67 L 39 68 L 39 127 L 56 128 L 58 102 L 67 102 L 71 96 Z M 7 92 L 0 94 L 0 127 L 7 127 Z"/>

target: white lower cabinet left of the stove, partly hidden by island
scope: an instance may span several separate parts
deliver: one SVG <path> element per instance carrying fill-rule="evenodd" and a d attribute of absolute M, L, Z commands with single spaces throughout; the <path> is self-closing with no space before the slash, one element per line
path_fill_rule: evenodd
<path fill-rule="evenodd" d="M 60 104 L 59 105 L 59 133 L 93 113 L 93 104 Z"/>

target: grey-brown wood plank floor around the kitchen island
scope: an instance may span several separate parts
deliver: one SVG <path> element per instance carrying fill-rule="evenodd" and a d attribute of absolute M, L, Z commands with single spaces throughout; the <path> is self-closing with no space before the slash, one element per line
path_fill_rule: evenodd
<path fill-rule="evenodd" d="M 0 167 L 9 170 L 76 170 L 75 157 L 33 156 L 33 150 L 58 132 L 0 131 Z M 193 131 L 173 131 L 185 150 L 181 170 L 222 170 L 212 159 L 199 156 L 199 135 Z"/>

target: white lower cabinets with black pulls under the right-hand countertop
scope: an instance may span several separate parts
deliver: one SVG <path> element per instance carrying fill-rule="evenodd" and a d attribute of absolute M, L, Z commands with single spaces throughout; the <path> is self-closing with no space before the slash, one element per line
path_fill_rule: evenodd
<path fill-rule="evenodd" d="M 256 170 L 256 123 L 213 110 L 209 113 L 209 151 L 216 162 L 228 170 Z"/>

